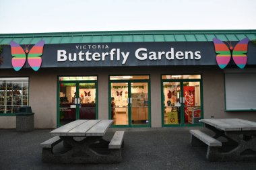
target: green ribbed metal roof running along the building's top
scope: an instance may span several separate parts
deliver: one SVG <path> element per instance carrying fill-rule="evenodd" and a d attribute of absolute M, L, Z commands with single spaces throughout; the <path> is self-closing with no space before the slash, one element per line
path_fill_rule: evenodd
<path fill-rule="evenodd" d="M 18 44 L 100 43 L 100 42 L 211 42 L 256 39 L 256 30 L 193 30 L 193 31 L 123 31 L 123 32 L 57 32 L 33 34 L 0 34 L 0 44 L 11 40 Z"/>

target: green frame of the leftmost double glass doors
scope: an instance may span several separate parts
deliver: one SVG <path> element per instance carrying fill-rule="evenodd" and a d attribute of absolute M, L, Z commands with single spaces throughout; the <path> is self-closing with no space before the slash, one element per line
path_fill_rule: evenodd
<path fill-rule="evenodd" d="M 60 115 L 59 115 L 59 89 L 61 83 L 72 83 L 75 84 L 75 90 L 78 91 L 76 93 L 76 97 L 79 97 L 79 83 L 95 83 L 95 88 L 96 88 L 96 120 L 98 119 L 98 81 L 96 80 L 77 80 L 77 81 L 59 81 L 58 77 L 58 83 L 57 83 L 57 127 L 61 126 L 60 124 Z M 79 105 L 76 104 L 76 109 L 75 109 L 75 119 L 79 119 Z"/>

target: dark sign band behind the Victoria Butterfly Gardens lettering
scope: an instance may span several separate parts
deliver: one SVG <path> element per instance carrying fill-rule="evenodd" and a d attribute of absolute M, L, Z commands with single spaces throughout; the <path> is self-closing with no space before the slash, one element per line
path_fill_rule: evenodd
<path fill-rule="evenodd" d="M 236 44 L 237 42 L 232 42 Z M 32 45 L 30 45 L 30 48 Z M 22 45 L 22 48 L 25 48 Z M 11 47 L 3 46 L 3 64 L 12 68 Z M 248 45 L 247 65 L 256 65 L 256 47 Z M 41 68 L 217 65 L 213 42 L 117 42 L 44 44 Z M 28 62 L 26 62 L 26 66 Z"/>

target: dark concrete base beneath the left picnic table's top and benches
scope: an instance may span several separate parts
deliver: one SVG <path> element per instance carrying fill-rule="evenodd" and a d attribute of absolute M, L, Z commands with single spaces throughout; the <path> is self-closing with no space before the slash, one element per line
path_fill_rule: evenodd
<path fill-rule="evenodd" d="M 121 149 L 108 149 L 108 141 L 101 136 L 87 136 L 76 141 L 72 137 L 61 137 L 71 149 L 63 154 L 55 154 L 50 149 L 42 150 L 44 162 L 48 163 L 120 163 Z"/>

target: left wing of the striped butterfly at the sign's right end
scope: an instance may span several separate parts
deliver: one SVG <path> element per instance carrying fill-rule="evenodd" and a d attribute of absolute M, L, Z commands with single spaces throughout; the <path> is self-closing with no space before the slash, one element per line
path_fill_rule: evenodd
<path fill-rule="evenodd" d="M 220 67 L 220 69 L 224 69 L 226 65 L 228 65 L 228 62 L 230 61 L 230 58 L 231 58 L 230 50 L 228 46 L 226 46 L 226 44 L 224 44 L 224 42 L 222 42 L 218 38 L 214 38 L 213 41 L 214 41 L 215 52 L 217 53 L 216 55 L 217 64 Z"/>

